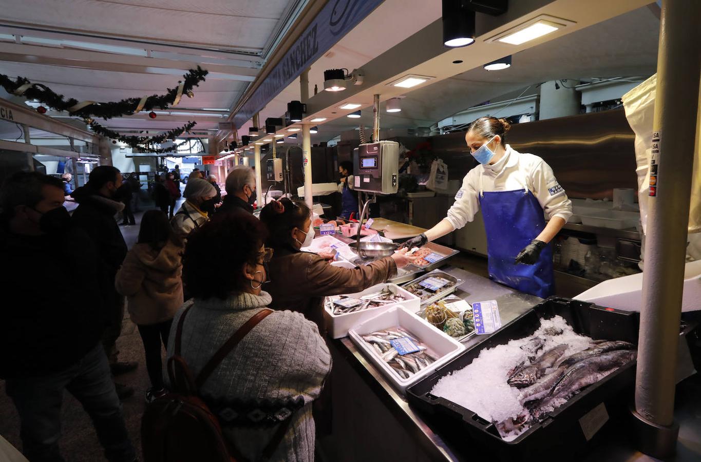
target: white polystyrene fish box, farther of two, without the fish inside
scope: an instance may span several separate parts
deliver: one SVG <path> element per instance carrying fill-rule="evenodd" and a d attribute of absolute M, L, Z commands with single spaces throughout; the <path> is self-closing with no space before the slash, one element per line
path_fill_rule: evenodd
<path fill-rule="evenodd" d="M 414 313 L 418 312 L 418 310 L 421 309 L 421 300 L 416 297 L 416 295 L 412 294 L 411 292 L 408 292 L 407 290 L 402 289 L 402 287 L 399 287 L 396 284 L 391 284 L 391 283 L 381 283 L 377 285 L 373 285 L 372 287 L 368 287 L 367 289 L 363 290 L 362 292 L 358 292 L 356 294 L 347 294 L 346 297 L 351 297 L 354 299 L 360 299 L 361 297 L 364 297 L 365 295 L 369 294 L 374 294 L 376 292 L 381 292 L 382 290 L 385 290 L 386 288 L 391 287 L 390 290 L 395 292 L 396 294 L 401 294 L 402 297 L 404 297 L 404 300 L 402 301 L 397 301 L 396 303 L 392 304 L 384 304 L 381 306 L 375 306 L 374 308 L 365 308 L 364 310 L 360 311 L 353 311 L 353 313 L 341 313 L 341 314 L 336 314 L 334 315 L 332 311 L 329 310 L 327 304 L 325 304 L 324 307 L 324 317 L 326 319 L 326 325 L 327 329 L 329 331 L 329 334 L 332 335 L 334 339 L 340 339 L 341 337 L 347 337 L 348 336 L 348 329 L 353 327 L 354 325 L 367 320 L 369 318 L 372 318 L 373 316 L 382 313 L 383 311 L 387 311 L 389 308 L 392 308 L 393 306 L 397 306 L 401 304 L 405 308 L 407 308 L 410 311 L 414 311 Z M 336 298 L 336 297 L 327 297 L 327 298 Z"/>

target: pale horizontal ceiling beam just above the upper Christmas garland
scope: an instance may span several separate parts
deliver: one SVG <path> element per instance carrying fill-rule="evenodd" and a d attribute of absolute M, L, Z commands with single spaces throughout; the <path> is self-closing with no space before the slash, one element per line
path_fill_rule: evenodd
<path fill-rule="evenodd" d="M 134 55 L 116 55 L 50 46 L 23 45 L 18 43 L 0 43 L 0 60 L 27 62 L 31 64 L 48 64 L 51 66 L 79 67 L 109 72 L 130 72 L 132 74 L 181 74 L 196 68 L 196 61 L 168 60 L 156 57 Z M 258 69 L 249 67 L 207 64 L 210 74 L 207 79 L 225 79 L 244 82 L 254 81 Z"/>

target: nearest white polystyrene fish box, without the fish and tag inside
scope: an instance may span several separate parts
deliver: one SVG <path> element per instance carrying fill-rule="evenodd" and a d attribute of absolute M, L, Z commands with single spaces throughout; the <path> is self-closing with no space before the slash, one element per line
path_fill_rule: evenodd
<path fill-rule="evenodd" d="M 395 327 L 401 327 L 409 332 L 437 357 L 437 360 L 419 370 L 416 374 L 411 375 L 408 379 L 402 379 L 397 375 L 395 370 L 378 355 L 374 348 L 362 339 L 362 336 L 372 334 L 372 332 Z M 404 306 L 395 306 L 374 316 L 374 318 L 355 325 L 348 330 L 348 337 L 351 337 L 351 341 L 360 348 L 365 357 L 369 358 L 402 394 L 405 393 L 409 386 L 433 374 L 436 369 L 446 365 L 465 350 L 465 346 L 459 341 L 442 334 L 426 320 L 421 319 Z"/>

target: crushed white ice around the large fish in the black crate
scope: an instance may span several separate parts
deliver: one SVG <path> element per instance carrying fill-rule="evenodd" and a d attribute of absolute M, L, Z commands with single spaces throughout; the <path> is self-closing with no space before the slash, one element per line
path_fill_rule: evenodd
<path fill-rule="evenodd" d="M 552 335 L 551 328 L 556 331 L 562 329 L 562 334 Z M 531 336 L 483 350 L 470 365 L 437 381 L 431 393 L 470 409 L 486 421 L 503 422 L 509 418 L 517 418 L 524 414 L 526 409 L 519 402 L 520 390 L 508 385 L 506 379 L 511 369 L 524 360 L 527 362 L 527 353 L 521 349 L 521 346 L 527 344 L 533 337 L 545 339 L 545 345 L 538 351 L 538 356 L 550 348 L 567 344 L 569 348 L 562 355 L 562 358 L 566 358 L 586 350 L 592 342 L 590 337 L 576 334 L 562 316 L 554 316 L 549 320 L 543 319 L 540 327 Z M 513 440 L 522 431 L 510 433 L 504 440 Z"/>

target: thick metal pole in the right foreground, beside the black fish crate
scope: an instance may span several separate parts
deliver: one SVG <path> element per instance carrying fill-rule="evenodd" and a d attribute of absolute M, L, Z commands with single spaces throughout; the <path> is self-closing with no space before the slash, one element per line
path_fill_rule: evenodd
<path fill-rule="evenodd" d="M 634 414 L 641 450 L 656 457 L 674 453 L 679 431 L 674 386 L 701 71 L 698 18 L 699 1 L 662 2 Z"/>

